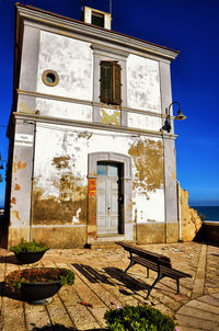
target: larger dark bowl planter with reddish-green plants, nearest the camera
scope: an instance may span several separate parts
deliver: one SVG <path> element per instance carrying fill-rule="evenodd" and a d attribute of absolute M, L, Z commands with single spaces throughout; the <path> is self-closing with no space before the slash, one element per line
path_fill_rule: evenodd
<path fill-rule="evenodd" d="M 46 304 L 62 285 L 73 283 L 73 271 L 60 267 L 16 270 L 5 277 L 7 288 L 12 292 L 20 288 L 23 298 L 31 304 Z"/>

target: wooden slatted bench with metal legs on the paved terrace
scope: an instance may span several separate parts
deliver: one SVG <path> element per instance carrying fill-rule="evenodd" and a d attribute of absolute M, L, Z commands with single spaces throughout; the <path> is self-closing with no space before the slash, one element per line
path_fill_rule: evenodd
<path fill-rule="evenodd" d="M 153 284 L 150 286 L 148 290 L 147 298 L 149 297 L 155 284 L 163 277 L 170 277 L 176 281 L 177 294 L 180 293 L 180 279 L 185 277 L 192 277 L 192 275 L 189 274 L 173 269 L 171 264 L 171 260 L 168 256 L 160 255 L 157 253 L 151 253 L 141 248 L 125 242 L 117 241 L 115 243 L 122 246 L 130 254 L 129 256 L 130 263 L 126 267 L 124 273 L 126 273 L 129 270 L 129 267 L 131 267 L 135 264 L 140 264 L 147 267 L 147 277 L 149 277 L 149 269 L 158 273 L 158 277 L 155 278 L 155 281 L 153 282 Z"/>

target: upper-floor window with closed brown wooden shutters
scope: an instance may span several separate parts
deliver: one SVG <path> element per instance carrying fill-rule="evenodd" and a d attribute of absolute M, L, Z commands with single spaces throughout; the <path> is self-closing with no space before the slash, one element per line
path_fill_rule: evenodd
<path fill-rule="evenodd" d="M 122 75 L 117 61 L 101 61 L 101 102 L 107 104 L 122 103 Z"/>

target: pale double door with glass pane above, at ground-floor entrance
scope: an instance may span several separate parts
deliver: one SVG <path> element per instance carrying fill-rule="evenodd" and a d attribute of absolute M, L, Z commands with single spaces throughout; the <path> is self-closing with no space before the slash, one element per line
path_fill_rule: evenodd
<path fill-rule="evenodd" d="M 97 235 L 118 233 L 119 166 L 97 162 L 96 225 Z"/>

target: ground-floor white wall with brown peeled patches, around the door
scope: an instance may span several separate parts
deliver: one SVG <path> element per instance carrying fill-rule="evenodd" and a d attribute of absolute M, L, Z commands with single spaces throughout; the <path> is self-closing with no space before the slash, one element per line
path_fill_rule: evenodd
<path fill-rule="evenodd" d="M 112 151 L 132 158 L 132 221 L 163 221 L 163 156 L 160 139 L 96 129 L 38 125 L 34 224 L 95 225 L 95 194 L 89 189 L 88 155 Z M 95 174 L 93 174 L 95 175 Z M 128 206 L 127 206 L 128 207 Z M 90 232 L 93 232 L 92 230 Z"/>

